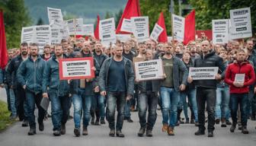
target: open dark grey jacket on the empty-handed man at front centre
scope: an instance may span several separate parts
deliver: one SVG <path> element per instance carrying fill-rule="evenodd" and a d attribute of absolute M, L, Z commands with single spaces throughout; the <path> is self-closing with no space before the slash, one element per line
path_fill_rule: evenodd
<path fill-rule="evenodd" d="M 125 79 L 126 79 L 126 94 L 133 95 L 133 89 L 134 89 L 134 72 L 133 72 L 133 62 L 131 62 L 129 59 L 126 59 L 123 57 L 124 61 L 124 72 L 125 72 Z M 113 57 L 110 57 L 106 59 L 103 62 L 103 65 L 101 66 L 101 71 L 99 75 L 99 86 L 100 90 L 107 90 L 107 79 L 108 79 L 108 71 L 110 68 L 111 62 L 114 62 Z M 114 78 L 111 78 L 111 80 L 114 80 Z"/>

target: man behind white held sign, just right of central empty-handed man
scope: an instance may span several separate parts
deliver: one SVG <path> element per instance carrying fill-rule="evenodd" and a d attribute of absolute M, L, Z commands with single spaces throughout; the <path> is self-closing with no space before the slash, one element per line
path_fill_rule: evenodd
<path fill-rule="evenodd" d="M 146 51 L 146 60 L 153 59 L 153 51 Z M 159 80 L 139 81 L 138 83 L 139 97 L 138 97 L 138 108 L 139 108 L 139 124 L 140 129 L 138 136 L 142 137 L 146 132 L 146 136 L 152 137 L 152 129 L 155 125 L 157 117 L 156 107 L 158 104 L 158 90 Z M 148 114 L 148 120 L 146 120 L 146 112 Z"/>

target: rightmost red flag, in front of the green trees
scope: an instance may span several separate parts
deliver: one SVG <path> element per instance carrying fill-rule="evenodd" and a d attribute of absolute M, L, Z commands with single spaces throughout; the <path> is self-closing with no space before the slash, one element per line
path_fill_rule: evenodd
<path fill-rule="evenodd" d="M 184 45 L 195 40 L 196 36 L 196 11 L 193 10 L 185 17 Z"/>

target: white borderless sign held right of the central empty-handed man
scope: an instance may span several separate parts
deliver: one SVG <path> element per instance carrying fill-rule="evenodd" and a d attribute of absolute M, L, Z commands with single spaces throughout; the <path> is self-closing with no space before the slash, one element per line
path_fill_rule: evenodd
<path fill-rule="evenodd" d="M 135 75 L 138 81 L 147 81 L 163 78 L 162 59 L 154 59 L 146 62 L 135 62 Z"/>

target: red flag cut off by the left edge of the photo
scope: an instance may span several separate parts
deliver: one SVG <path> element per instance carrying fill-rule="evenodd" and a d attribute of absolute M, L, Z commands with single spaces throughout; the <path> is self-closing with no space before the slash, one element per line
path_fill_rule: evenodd
<path fill-rule="evenodd" d="M 5 39 L 4 14 L 0 10 L 0 68 L 4 69 L 8 63 L 8 52 Z"/>

